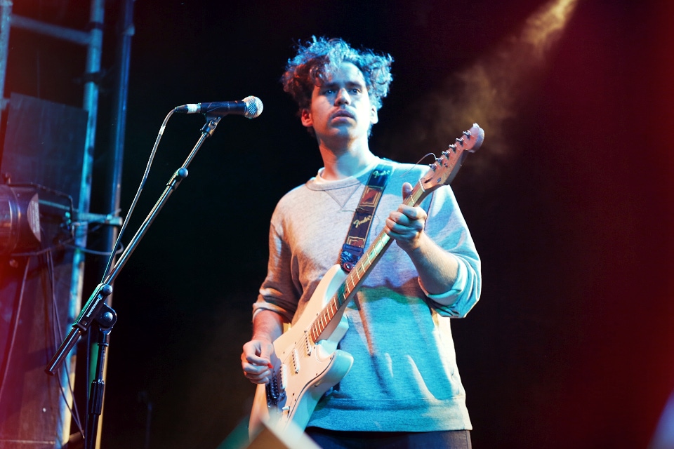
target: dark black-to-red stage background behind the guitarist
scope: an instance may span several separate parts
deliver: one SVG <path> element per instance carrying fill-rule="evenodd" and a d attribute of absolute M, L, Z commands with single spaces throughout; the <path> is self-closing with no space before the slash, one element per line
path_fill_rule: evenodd
<path fill-rule="evenodd" d="M 14 11 L 84 29 L 87 4 L 15 1 Z M 534 48 L 523 30 L 546 4 L 136 1 L 123 215 L 173 107 L 256 95 L 264 112 L 220 122 L 114 285 L 102 448 L 233 447 L 254 389 L 239 354 L 269 218 L 321 166 L 278 81 L 293 42 L 312 34 L 395 58 L 376 154 L 416 162 L 473 121 L 486 131 L 453 184 L 484 274 L 480 303 L 454 322 L 475 448 L 647 447 L 674 389 L 674 8 L 580 0 Z M 108 2 L 107 31 L 118 9 Z M 55 78 L 72 78 L 56 100 L 81 105 L 84 65 L 52 61 L 47 74 L 50 58 L 22 51 L 6 91 L 46 97 Z M 97 173 L 110 127 L 100 115 Z M 203 124 L 169 121 L 131 231 Z M 92 212 L 107 213 L 99 191 Z M 87 258 L 86 293 L 98 262 Z"/>

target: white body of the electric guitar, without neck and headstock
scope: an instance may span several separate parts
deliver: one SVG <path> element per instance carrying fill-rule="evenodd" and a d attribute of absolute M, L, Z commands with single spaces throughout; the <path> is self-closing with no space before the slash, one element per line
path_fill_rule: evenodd
<path fill-rule="evenodd" d="M 353 357 L 337 349 L 349 328 L 343 314 L 331 320 L 320 340 L 312 342 L 309 337 L 313 321 L 346 276 L 339 265 L 329 269 L 297 323 L 275 340 L 278 361 L 272 382 L 257 386 L 249 423 L 251 438 L 263 424 L 283 431 L 293 422 L 304 429 L 320 398 L 351 369 Z"/>

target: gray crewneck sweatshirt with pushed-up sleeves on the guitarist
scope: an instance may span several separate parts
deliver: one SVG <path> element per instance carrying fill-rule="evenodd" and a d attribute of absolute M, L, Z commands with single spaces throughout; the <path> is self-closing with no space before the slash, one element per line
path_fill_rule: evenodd
<path fill-rule="evenodd" d="M 402 203 L 402 184 L 415 185 L 426 166 L 391 162 L 393 171 L 373 218 L 367 245 Z M 357 177 L 312 177 L 282 197 L 272 215 L 267 277 L 253 311 L 277 311 L 297 321 L 338 255 L 371 167 Z M 345 311 L 349 330 L 339 348 L 353 366 L 322 398 L 309 426 L 351 431 L 472 429 L 456 366 L 450 319 L 461 318 L 480 297 L 480 258 L 449 186 L 421 206 L 425 232 L 459 261 L 449 306 L 418 283 L 411 260 L 395 243 L 371 270 Z M 446 302 L 446 301 L 444 301 Z M 254 312 L 253 312 L 254 313 Z"/>

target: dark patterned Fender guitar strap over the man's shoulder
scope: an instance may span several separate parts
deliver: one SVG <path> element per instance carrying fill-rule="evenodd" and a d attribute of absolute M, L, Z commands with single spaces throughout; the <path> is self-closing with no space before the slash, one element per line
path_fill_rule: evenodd
<path fill-rule="evenodd" d="M 358 207 L 353 213 L 351 227 L 339 255 L 339 264 L 347 273 L 351 271 L 363 255 L 367 234 L 372 225 L 372 217 L 390 174 L 391 166 L 388 163 L 380 163 L 370 173 Z"/>

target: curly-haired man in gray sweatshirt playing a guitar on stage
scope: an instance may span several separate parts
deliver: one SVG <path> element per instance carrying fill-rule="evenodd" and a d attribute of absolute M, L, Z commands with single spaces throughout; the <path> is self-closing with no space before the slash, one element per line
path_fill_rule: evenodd
<path fill-rule="evenodd" d="M 284 91 L 298 102 L 324 167 L 288 192 L 272 215 L 268 272 L 253 305 L 253 337 L 244 344 L 242 368 L 263 391 L 258 408 L 278 408 L 261 413 L 277 413 L 280 420 L 286 413 L 322 448 L 470 448 L 449 321 L 468 314 L 480 297 L 480 258 L 449 186 L 418 204 L 403 201 L 414 196 L 413 185 L 428 166 L 386 161 L 369 149 L 391 62 L 390 55 L 355 50 L 342 39 L 314 38 L 300 44 L 286 66 Z M 374 244 L 376 266 L 365 260 L 360 264 L 372 266 L 354 268 L 357 291 L 315 312 L 324 304 L 312 302 L 329 300 L 317 297 L 325 295 L 317 293 L 320 281 L 345 276 L 331 267 L 369 177 L 381 167 L 388 182 L 367 219 L 367 241 L 381 232 L 380 240 L 395 244 L 388 250 Z M 342 288 L 356 290 L 355 283 L 347 279 Z M 293 330 L 308 322 L 301 318 L 305 311 L 318 317 L 310 319 L 319 330 L 281 338 L 284 323 Z M 325 371 L 341 363 L 334 368 L 341 372 L 305 375 L 293 390 L 294 378 L 315 359 L 325 361 Z M 313 403 L 298 397 L 304 394 L 314 394 Z"/>

